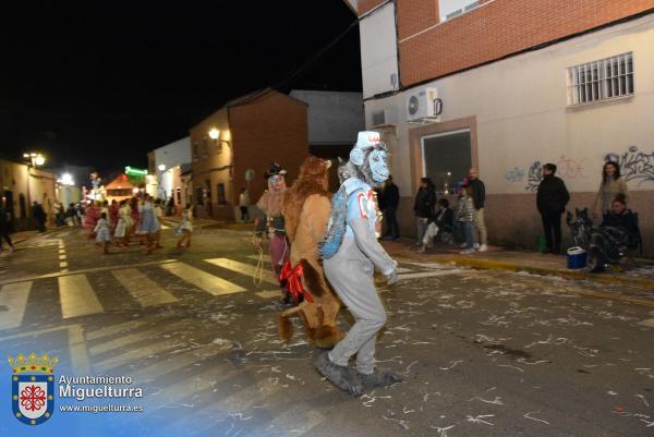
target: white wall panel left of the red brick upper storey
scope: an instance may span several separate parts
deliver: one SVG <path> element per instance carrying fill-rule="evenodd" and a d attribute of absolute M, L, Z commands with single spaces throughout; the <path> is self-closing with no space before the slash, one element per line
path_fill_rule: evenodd
<path fill-rule="evenodd" d="M 397 89 L 399 80 L 395 2 L 364 16 L 359 23 L 359 33 L 363 97 Z"/>

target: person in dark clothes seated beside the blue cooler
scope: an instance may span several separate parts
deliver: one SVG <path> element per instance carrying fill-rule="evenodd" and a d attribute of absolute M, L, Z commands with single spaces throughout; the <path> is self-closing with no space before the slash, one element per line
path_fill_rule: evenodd
<path fill-rule="evenodd" d="M 607 264 L 618 264 L 626 251 L 639 245 L 638 216 L 627 208 L 625 195 L 616 195 L 610 207 L 600 228 L 591 232 L 590 254 L 595 259 L 592 274 L 604 271 Z"/>

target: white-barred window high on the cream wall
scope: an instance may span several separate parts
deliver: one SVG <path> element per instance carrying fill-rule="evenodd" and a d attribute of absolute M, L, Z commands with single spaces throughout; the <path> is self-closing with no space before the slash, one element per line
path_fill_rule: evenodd
<path fill-rule="evenodd" d="M 622 53 L 568 69 L 568 105 L 583 105 L 633 94 L 633 53 Z"/>

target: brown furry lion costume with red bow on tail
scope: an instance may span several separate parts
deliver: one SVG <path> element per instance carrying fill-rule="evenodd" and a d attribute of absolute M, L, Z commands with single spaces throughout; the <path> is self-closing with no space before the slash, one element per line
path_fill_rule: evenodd
<path fill-rule="evenodd" d="M 298 306 L 281 313 L 279 337 L 290 340 L 289 317 L 300 314 L 307 337 L 318 348 L 331 348 L 343 337 L 336 326 L 340 301 L 325 279 L 318 257 L 318 243 L 325 236 L 331 210 L 331 194 L 327 191 L 329 167 L 329 161 L 313 156 L 306 158 L 300 167 L 300 175 L 284 193 L 281 207 L 291 241 L 291 267 L 302 266 L 302 284 L 313 302 L 304 298 Z"/>

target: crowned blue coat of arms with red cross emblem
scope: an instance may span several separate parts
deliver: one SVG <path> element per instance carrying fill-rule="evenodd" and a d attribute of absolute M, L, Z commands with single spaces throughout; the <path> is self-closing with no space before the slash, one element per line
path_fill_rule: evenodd
<path fill-rule="evenodd" d="M 57 356 L 34 352 L 25 356 L 19 354 L 9 357 L 12 368 L 12 410 L 19 421 L 27 425 L 40 425 L 55 412 L 53 367 L 59 363 Z"/>

